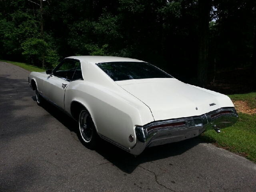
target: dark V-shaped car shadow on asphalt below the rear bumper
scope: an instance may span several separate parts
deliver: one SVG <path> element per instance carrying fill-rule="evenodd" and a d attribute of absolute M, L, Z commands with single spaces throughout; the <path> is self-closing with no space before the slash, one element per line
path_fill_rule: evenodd
<path fill-rule="evenodd" d="M 95 151 L 123 172 L 131 174 L 140 164 L 178 156 L 200 143 L 202 143 L 200 139 L 192 138 L 181 142 L 154 146 L 146 148 L 140 155 L 135 157 L 111 143 L 102 141 L 100 147 Z"/>

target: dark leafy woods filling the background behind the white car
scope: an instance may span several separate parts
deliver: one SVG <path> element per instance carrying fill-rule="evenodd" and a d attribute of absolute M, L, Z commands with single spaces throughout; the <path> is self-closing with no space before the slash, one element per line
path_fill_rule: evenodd
<path fill-rule="evenodd" d="M 256 2 L 209 1 L 209 70 L 214 60 L 217 69 L 250 66 Z M 44 1 L 45 44 L 32 46 L 41 39 L 36 3 L 0 1 L 1 58 L 41 66 L 44 49 L 48 68 L 71 55 L 124 56 L 151 62 L 184 81 L 196 77 L 198 0 Z"/>

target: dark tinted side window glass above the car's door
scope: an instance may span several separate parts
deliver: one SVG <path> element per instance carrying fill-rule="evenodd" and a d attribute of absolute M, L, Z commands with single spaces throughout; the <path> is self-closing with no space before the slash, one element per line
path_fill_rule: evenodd
<path fill-rule="evenodd" d="M 76 59 L 65 59 L 60 66 L 54 69 L 54 75 L 66 80 L 82 79 L 81 64 Z"/>

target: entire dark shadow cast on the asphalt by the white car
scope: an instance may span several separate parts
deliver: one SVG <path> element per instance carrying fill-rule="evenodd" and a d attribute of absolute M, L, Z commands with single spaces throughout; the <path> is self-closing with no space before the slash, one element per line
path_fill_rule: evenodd
<path fill-rule="evenodd" d="M 34 96 L 32 99 L 35 99 Z M 48 102 L 45 102 L 42 107 L 80 138 L 77 128 L 78 123 L 74 119 Z M 191 138 L 181 142 L 146 148 L 140 155 L 135 157 L 114 144 L 101 139 L 94 151 L 126 174 L 131 174 L 140 164 L 183 154 L 200 143 L 202 141 L 199 138 Z"/>

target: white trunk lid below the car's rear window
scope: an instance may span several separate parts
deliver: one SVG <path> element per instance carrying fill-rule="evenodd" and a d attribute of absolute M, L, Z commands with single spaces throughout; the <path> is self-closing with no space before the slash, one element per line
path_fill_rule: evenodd
<path fill-rule="evenodd" d="M 154 120 L 198 116 L 221 107 L 234 106 L 226 95 L 191 86 L 175 78 L 124 80 L 116 81 L 116 84 L 144 102 Z"/>

